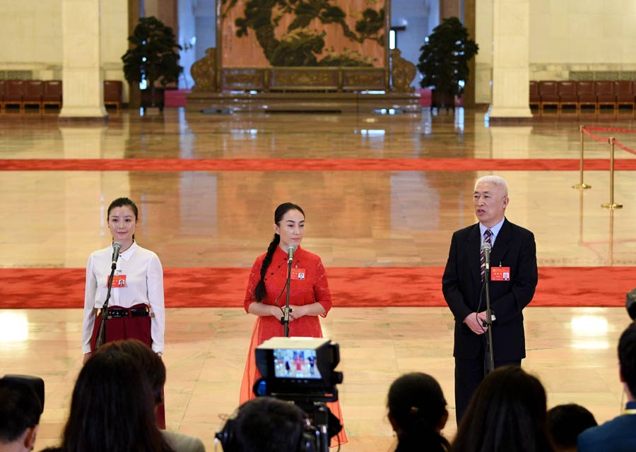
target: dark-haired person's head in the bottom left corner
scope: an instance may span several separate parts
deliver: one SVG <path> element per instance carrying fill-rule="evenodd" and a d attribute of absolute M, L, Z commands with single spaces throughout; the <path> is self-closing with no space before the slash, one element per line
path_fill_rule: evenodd
<path fill-rule="evenodd" d="M 0 379 L 0 452 L 33 451 L 42 403 L 28 383 Z"/>

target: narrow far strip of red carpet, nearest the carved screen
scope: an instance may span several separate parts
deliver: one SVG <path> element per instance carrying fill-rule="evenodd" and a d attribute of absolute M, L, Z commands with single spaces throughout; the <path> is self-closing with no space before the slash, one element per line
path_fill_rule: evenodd
<path fill-rule="evenodd" d="M 617 171 L 636 160 L 616 160 Z M 607 159 L 584 162 L 587 171 L 609 169 Z M 317 158 L 317 159 L 5 159 L 0 171 L 578 171 L 577 159 Z"/>

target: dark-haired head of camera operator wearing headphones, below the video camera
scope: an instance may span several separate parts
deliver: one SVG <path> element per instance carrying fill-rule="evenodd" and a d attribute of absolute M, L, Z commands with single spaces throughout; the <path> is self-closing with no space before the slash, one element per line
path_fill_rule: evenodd
<path fill-rule="evenodd" d="M 311 452 L 315 436 L 293 403 L 259 397 L 241 405 L 217 432 L 223 452 Z"/>

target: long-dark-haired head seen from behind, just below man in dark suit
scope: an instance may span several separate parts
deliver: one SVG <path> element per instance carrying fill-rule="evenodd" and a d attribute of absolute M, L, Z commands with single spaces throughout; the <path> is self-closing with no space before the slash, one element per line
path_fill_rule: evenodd
<path fill-rule="evenodd" d="M 454 452 L 552 452 L 546 391 L 521 367 L 490 372 L 459 422 Z"/>

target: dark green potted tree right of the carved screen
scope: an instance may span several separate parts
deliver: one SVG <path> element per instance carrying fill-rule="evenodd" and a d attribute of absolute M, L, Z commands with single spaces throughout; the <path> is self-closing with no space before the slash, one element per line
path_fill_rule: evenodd
<path fill-rule="evenodd" d="M 445 18 L 420 47 L 420 86 L 432 87 L 432 105 L 454 107 L 455 96 L 464 93 L 469 77 L 468 62 L 479 50 L 457 17 Z"/>

